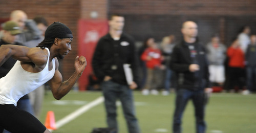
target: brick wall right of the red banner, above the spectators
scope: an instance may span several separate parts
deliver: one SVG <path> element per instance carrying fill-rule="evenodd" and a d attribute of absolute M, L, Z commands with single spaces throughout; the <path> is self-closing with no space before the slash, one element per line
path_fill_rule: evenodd
<path fill-rule="evenodd" d="M 244 25 L 249 25 L 256 34 L 256 1 L 253 0 L 112 0 L 109 5 L 109 14 L 124 14 L 124 30 L 139 41 L 146 36 L 161 41 L 169 34 L 175 34 L 179 40 L 181 24 L 186 20 L 198 23 L 203 43 L 208 42 L 212 34 L 219 33 L 221 40 L 229 45 Z"/>

